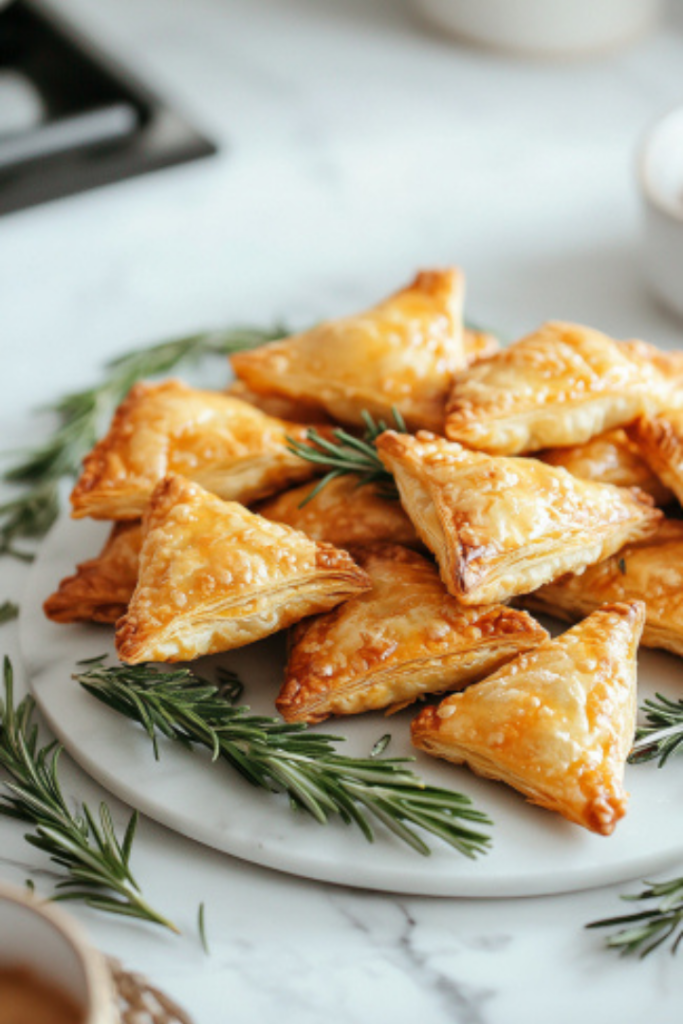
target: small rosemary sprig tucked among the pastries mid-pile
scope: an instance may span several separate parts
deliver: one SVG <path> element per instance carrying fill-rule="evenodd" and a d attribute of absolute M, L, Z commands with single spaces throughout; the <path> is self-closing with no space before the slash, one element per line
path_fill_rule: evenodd
<path fill-rule="evenodd" d="M 292 437 L 287 438 L 287 446 L 290 452 L 314 466 L 322 466 L 328 470 L 323 479 L 301 503 L 300 508 L 312 501 L 315 495 L 319 494 L 323 487 L 332 480 L 336 480 L 338 476 L 346 476 L 348 473 L 353 473 L 358 477 L 358 486 L 366 483 L 381 483 L 385 497 L 398 497 L 393 476 L 385 468 L 375 447 L 375 441 L 385 430 L 397 430 L 402 434 L 408 432 L 398 410 L 394 407 L 391 412 L 394 426 L 387 427 L 384 420 L 376 422 L 370 413 L 364 411 L 361 416 L 366 424 L 366 431 L 362 437 L 354 437 L 346 430 L 337 428 L 332 431 L 334 440 L 331 441 L 327 437 L 323 437 L 317 430 L 311 428 L 306 431 L 305 441 L 297 441 Z"/>

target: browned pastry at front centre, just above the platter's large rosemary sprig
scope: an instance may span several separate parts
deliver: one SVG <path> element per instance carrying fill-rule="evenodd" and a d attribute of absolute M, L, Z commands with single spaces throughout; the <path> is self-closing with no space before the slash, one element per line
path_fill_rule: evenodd
<path fill-rule="evenodd" d="M 276 700 L 288 722 L 322 722 L 462 689 L 547 639 L 512 608 L 463 607 L 415 551 L 377 545 L 354 557 L 373 589 L 294 629 Z"/>

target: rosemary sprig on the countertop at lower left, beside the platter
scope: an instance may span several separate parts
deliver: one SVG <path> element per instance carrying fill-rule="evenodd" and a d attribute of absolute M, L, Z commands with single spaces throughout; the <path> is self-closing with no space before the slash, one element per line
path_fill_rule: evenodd
<path fill-rule="evenodd" d="M 130 870 L 130 854 L 137 812 L 122 840 L 117 838 L 112 814 L 100 804 L 97 818 L 83 804 L 81 813 L 67 806 L 58 778 L 61 746 L 38 745 L 32 697 L 14 707 L 12 667 L 4 662 L 4 702 L 0 700 L 0 768 L 9 776 L 2 784 L 0 814 L 33 826 L 26 836 L 32 846 L 47 853 L 66 869 L 57 885 L 57 900 L 83 900 L 110 913 L 137 918 L 176 932 L 170 921 L 144 902 Z"/>

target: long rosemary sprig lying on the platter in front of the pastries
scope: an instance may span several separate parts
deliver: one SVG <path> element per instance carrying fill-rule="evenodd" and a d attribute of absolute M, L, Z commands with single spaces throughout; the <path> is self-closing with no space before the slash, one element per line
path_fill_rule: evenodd
<path fill-rule="evenodd" d="M 468 797 L 426 785 L 405 768 L 407 759 L 348 758 L 336 753 L 342 737 L 310 731 L 236 707 L 221 691 L 188 669 L 153 666 L 92 666 L 74 676 L 93 696 L 146 730 L 159 757 L 159 735 L 185 745 L 207 746 L 213 760 L 227 761 L 253 785 L 287 793 L 294 808 L 321 824 L 339 815 L 374 839 L 380 821 L 419 853 L 429 847 L 414 827 L 437 836 L 474 857 L 490 840 L 477 826 L 489 819 Z M 233 684 L 231 674 L 223 676 Z"/>

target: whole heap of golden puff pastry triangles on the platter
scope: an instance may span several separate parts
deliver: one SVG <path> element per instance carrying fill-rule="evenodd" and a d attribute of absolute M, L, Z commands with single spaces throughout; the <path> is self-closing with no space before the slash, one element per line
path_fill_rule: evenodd
<path fill-rule="evenodd" d="M 72 496 L 113 532 L 45 610 L 117 622 L 128 664 L 293 626 L 286 719 L 447 692 L 414 722 L 421 750 L 608 834 L 643 626 L 683 654 L 683 525 L 656 507 L 683 501 L 681 360 L 563 323 L 499 349 L 463 293 L 455 268 L 421 272 L 233 356 L 229 393 L 136 385 Z M 398 500 L 352 474 L 321 487 L 292 443 L 368 414 L 407 425 L 375 441 Z M 579 625 L 550 639 L 529 609 Z"/>

